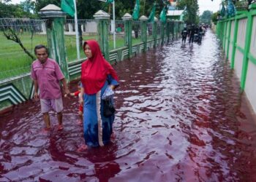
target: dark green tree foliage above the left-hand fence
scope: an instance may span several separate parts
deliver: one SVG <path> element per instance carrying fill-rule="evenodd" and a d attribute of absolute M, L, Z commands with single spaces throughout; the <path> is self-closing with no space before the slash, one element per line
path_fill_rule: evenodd
<path fill-rule="evenodd" d="M 156 3 L 155 16 L 159 17 L 159 14 L 164 7 L 163 1 L 159 0 L 140 0 L 140 16 L 146 15 L 146 17 L 148 17 L 154 3 Z M 20 4 L 6 4 L 0 1 L 0 17 L 37 17 L 39 10 L 43 7 L 46 7 L 48 4 L 55 4 L 56 6 L 61 7 L 61 0 L 25 0 Z M 115 1 L 115 6 L 116 20 L 121 20 L 121 17 L 123 17 L 127 12 L 132 15 L 132 11 L 135 7 L 135 0 L 118 0 Z M 108 12 L 111 18 L 113 18 L 112 4 L 108 4 L 102 1 L 78 0 L 77 9 L 78 19 L 94 19 L 93 15 L 100 9 Z M 67 18 L 69 19 L 72 17 L 67 16 Z"/>

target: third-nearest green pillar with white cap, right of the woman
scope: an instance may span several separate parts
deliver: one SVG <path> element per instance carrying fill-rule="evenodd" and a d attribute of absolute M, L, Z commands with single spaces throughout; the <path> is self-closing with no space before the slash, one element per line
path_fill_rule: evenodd
<path fill-rule="evenodd" d="M 132 15 L 126 13 L 124 20 L 124 44 L 128 47 L 128 58 L 132 57 Z"/>

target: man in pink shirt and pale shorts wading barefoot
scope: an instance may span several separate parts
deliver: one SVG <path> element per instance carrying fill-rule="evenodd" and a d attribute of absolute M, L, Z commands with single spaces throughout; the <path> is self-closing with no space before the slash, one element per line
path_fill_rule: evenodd
<path fill-rule="evenodd" d="M 50 116 L 48 112 L 53 109 L 58 116 L 58 130 L 62 130 L 63 103 L 59 81 L 63 84 L 64 92 L 69 95 L 66 79 L 56 61 L 48 58 L 48 48 L 44 45 L 34 47 L 37 60 L 31 66 L 31 78 L 34 81 L 34 99 L 39 100 L 41 111 L 46 125 L 45 130 L 50 130 Z M 40 93 L 38 94 L 38 89 Z"/>

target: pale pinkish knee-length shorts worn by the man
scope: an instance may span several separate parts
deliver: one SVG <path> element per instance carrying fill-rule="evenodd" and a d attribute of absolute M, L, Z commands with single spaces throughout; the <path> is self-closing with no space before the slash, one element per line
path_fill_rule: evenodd
<path fill-rule="evenodd" d="M 57 113 L 63 110 L 62 98 L 40 99 L 40 103 L 42 113 L 48 113 L 52 109 Z"/>

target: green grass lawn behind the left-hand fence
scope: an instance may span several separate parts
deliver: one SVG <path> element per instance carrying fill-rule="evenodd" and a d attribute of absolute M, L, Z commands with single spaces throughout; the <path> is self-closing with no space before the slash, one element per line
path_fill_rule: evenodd
<path fill-rule="evenodd" d="M 45 44 L 47 46 L 46 35 L 24 32 L 20 34 L 20 39 L 29 52 L 34 55 L 34 47 L 37 44 Z M 83 36 L 83 40 L 97 39 L 97 36 Z M 12 76 L 18 76 L 28 73 L 33 60 L 26 55 L 20 45 L 14 41 L 7 40 L 2 32 L 0 32 L 0 80 Z M 132 44 L 137 44 L 140 39 L 132 39 Z M 67 49 L 67 60 L 71 62 L 77 59 L 75 36 L 65 36 L 65 44 Z M 116 48 L 124 46 L 124 37 L 116 37 Z M 109 36 L 109 50 L 113 50 L 113 36 Z M 83 48 L 80 47 L 80 58 L 85 58 Z"/>

